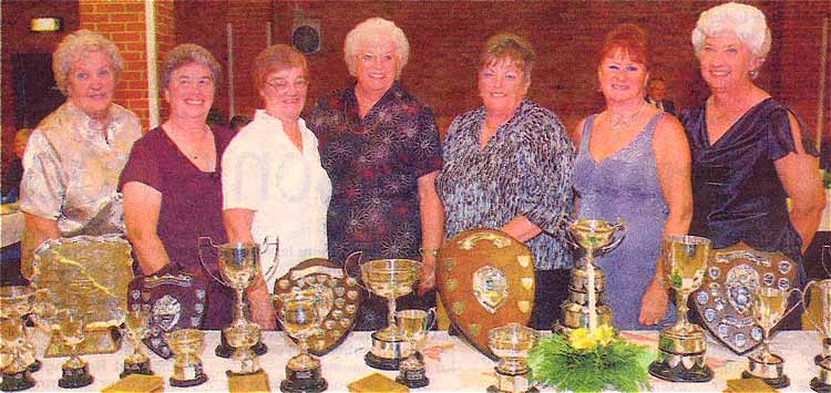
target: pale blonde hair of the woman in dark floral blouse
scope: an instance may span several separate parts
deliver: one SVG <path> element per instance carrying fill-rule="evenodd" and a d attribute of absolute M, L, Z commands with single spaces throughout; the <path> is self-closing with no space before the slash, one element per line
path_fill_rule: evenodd
<path fill-rule="evenodd" d="M 347 34 L 346 41 L 343 41 L 343 60 L 352 76 L 358 72 L 357 56 L 361 45 L 369 40 L 377 40 L 379 38 L 389 39 L 396 46 L 396 58 L 398 58 L 396 79 L 401 77 L 401 70 L 403 70 L 410 60 L 410 42 L 407 41 L 407 35 L 404 35 L 404 32 L 396 23 L 383 18 L 367 19 L 358 23 Z"/>

